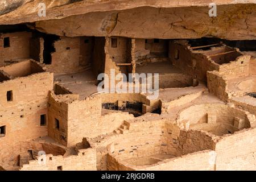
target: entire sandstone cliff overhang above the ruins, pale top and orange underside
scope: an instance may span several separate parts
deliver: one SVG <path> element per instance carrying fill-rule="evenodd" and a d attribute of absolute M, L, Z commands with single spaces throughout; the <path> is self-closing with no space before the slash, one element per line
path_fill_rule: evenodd
<path fill-rule="evenodd" d="M 38 16 L 40 2 L 46 3 L 46 17 Z M 162 39 L 217 36 L 229 40 L 253 40 L 256 36 L 254 0 L 216 1 L 216 17 L 209 17 L 208 0 L 1 3 L 0 24 L 33 23 L 33 28 L 56 35 Z"/>

